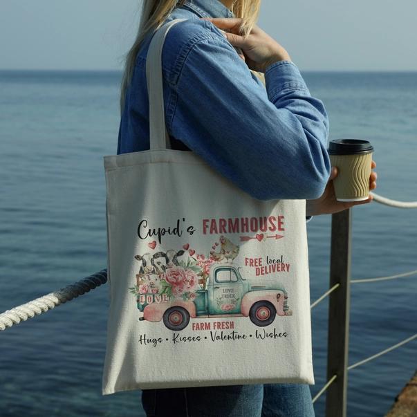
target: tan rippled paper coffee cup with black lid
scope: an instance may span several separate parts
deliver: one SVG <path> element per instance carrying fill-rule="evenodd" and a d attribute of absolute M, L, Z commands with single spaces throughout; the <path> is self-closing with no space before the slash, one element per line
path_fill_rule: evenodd
<path fill-rule="evenodd" d="M 337 201 L 362 201 L 369 198 L 373 146 L 368 140 L 335 139 L 328 145 L 332 167 L 338 174 L 333 179 Z"/>

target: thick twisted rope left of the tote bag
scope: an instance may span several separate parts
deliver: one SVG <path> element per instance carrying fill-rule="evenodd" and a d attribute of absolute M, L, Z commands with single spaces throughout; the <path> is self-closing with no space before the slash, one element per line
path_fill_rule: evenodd
<path fill-rule="evenodd" d="M 49 311 L 51 308 L 70 301 L 79 295 L 88 293 L 89 290 L 105 284 L 106 281 L 107 270 L 103 269 L 100 272 L 95 272 L 95 274 L 77 281 L 75 284 L 68 285 L 53 293 L 12 308 L 11 310 L 6 310 L 0 314 L 0 331 L 13 326 L 13 324 L 18 324 L 22 320 L 25 321 L 28 318 L 35 317 L 35 315 Z"/>

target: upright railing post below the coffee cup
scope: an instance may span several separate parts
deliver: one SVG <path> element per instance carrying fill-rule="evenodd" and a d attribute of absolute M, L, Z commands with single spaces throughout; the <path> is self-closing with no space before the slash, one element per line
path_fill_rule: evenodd
<path fill-rule="evenodd" d="M 346 417 L 347 369 L 349 355 L 349 309 L 351 297 L 351 209 L 331 217 L 327 380 L 337 378 L 326 391 L 326 417 Z"/>

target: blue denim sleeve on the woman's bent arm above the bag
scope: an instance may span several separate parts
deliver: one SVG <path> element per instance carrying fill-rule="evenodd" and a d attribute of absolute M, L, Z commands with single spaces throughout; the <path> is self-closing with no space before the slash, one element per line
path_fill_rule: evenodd
<path fill-rule="evenodd" d="M 169 134 L 217 172 L 260 200 L 322 195 L 328 116 L 295 64 L 269 66 L 265 89 L 226 39 L 205 34 L 187 42 L 168 77 Z"/>

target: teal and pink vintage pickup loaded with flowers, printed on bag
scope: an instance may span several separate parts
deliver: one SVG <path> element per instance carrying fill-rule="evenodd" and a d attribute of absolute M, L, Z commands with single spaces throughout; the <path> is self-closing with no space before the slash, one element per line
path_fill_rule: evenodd
<path fill-rule="evenodd" d="M 277 315 L 292 315 L 284 288 L 270 280 L 245 279 L 240 270 L 233 262 L 188 260 L 159 274 L 137 275 L 137 285 L 129 289 L 143 312 L 140 320 L 163 320 L 173 331 L 197 317 L 249 317 L 257 326 L 268 326 Z"/>

